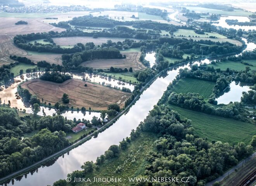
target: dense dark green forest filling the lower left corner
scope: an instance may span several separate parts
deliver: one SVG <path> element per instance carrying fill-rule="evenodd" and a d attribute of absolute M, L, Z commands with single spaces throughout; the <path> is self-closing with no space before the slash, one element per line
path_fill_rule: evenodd
<path fill-rule="evenodd" d="M 69 131 L 71 126 L 62 116 L 19 117 L 15 109 L 0 107 L 0 121 L 0 177 L 34 164 L 69 145 L 63 131 Z M 35 129 L 42 130 L 21 140 L 21 136 Z"/>

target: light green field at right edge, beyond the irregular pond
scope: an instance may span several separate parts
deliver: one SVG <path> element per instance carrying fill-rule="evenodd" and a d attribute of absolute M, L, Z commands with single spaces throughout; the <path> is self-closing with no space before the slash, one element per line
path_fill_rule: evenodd
<path fill-rule="evenodd" d="M 243 60 L 243 61 L 254 65 L 254 67 L 242 64 L 240 62 L 234 62 L 234 61 L 218 62 L 216 64 L 209 64 L 209 66 L 214 67 L 214 69 L 220 68 L 221 70 L 226 70 L 227 68 L 229 68 L 230 70 L 244 71 L 246 67 L 250 67 L 251 70 L 256 70 L 256 60 Z"/>

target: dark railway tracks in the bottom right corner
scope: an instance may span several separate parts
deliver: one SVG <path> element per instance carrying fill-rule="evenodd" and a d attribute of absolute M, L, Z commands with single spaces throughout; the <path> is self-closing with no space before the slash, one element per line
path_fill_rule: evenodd
<path fill-rule="evenodd" d="M 256 179 L 256 158 L 240 171 L 240 174 L 230 180 L 225 186 L 249 186 Z"/>

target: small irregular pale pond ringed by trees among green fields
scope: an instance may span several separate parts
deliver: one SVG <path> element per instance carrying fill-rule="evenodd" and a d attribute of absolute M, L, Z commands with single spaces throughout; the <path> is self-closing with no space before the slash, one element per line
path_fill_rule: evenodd
<path fill-rule="evenodd" d="M 230 102 L 240 102 L 242 97 L 242 92 L 247 92 L 250 90 L 249 86 L 242 86 L 240 83 L 236 84 L 235 81 L 230 83 L 230 90 L 224 93 L 222 96 L 216 99 L 218 104 L 228 104 Z"/>

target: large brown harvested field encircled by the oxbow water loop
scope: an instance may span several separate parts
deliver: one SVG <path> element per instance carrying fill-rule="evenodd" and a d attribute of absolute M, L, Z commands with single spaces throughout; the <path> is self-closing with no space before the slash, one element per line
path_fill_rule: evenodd
<path fill-rule="evenodd" d="M 87 86 L 84 86 L 85 83 Z M 130 97 L 126 93 L 113 88 L 108 88 L 99 84 L 92 84 L 78 79 L 69 79 L 64 83 L 54 83 L 41 79 L 32 79 L 21 84 L 32 95 L 36 95 L 44 102 L 55 104 L 61 102 L 63 93 L 67 93 L 70 98 L 69 106 L 91 107 L 93 110 L 107 110 L 111 103 L 117 103 L 121 108 L 125 105 L 125 100 Z"/>

